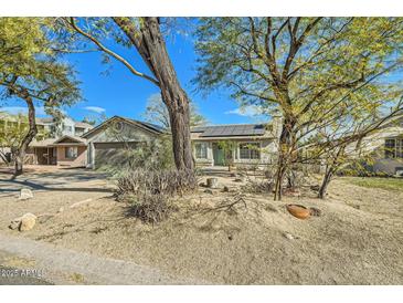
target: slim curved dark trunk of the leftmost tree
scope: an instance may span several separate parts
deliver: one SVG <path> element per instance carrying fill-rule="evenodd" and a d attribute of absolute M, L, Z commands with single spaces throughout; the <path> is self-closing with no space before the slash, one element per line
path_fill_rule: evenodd
<path fill-rule="evenodd" d="M 28 122 L 29 122 L 29 130 L 20 143 L 19 147 L 14 152 L 14 175 L 19 176 L 23 173 L 23 164 L 25 158 L 26 148 L 32 142 L 32 139 L 36 136 L 38 128 L 35 122 L 35 107 L 33 105 L 33 101 L 30 97 L 28 92 L 22 92 L 19 96 L 23 97 L 28 105 Z"/>

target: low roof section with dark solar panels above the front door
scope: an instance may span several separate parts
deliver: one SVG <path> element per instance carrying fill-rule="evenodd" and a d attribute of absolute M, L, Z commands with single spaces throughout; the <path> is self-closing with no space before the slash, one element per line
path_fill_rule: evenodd
<path fill-rule="evenodd" d="M 226 124 L 226 125 L 197 126 L 191 128 L 191 133 L 200 133 L 199 137 L 264 136 L 266 134 L 266 125 Z"/>

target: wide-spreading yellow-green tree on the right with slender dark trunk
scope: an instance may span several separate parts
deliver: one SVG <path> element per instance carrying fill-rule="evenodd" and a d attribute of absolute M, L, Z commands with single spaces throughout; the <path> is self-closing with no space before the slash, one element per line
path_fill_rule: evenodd
<path fill-rule="evenodd" d="M 276 196 L 298 147 L 326 127 L 402 95 L 400 18 L 205 18 L 197 30 L 201 90 L 226 86 L 242 104 L 279 109 Z M 368 115 L 365 115 L 368 116 Z"/>

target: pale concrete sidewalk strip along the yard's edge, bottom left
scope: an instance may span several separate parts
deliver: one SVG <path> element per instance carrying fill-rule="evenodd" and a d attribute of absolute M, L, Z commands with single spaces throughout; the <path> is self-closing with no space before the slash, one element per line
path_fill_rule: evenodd
<path fill-rule="evenodd" d="M 30 269 L 43 271 L 43 280 L 54 284 L 208 284 L 193 279 L 176 278 L 134 262 L 94 257 L 22 237 L 0 233 L 0 250 L 13 258 L 26 260 Z M 9 267 L 0 263 L 1 265 Z M 24 267 L 22 262 L 15 268 Z"/>

